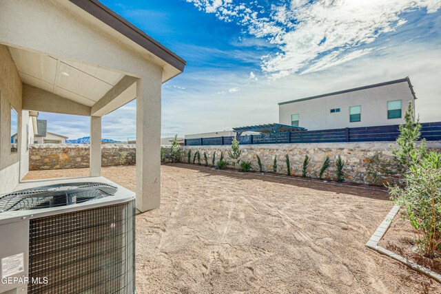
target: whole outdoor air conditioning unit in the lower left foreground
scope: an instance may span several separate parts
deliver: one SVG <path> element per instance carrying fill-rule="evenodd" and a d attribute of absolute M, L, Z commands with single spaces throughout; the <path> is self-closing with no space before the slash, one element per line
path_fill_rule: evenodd
<path fill-rule="evenodd" d="M 0 293 L 134 293 L 134 214 L 112 183 L 0 196 Z"/>

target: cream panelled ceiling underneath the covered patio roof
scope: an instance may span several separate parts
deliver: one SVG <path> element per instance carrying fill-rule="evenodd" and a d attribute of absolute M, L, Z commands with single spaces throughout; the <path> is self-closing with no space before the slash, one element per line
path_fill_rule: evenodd
<path fill-rule="evenodd" d="M 99 101 L 124 74 L 10 47 L 24 83 L 83 105 Z"/>

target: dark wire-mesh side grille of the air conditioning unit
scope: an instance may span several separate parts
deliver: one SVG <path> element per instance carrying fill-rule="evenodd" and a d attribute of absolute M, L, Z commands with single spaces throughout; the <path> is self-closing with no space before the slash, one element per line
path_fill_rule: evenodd
<path fill-rule="evenodd" d="M 30 220 L 30 293 L 134 293 L 134 200 Z"/>

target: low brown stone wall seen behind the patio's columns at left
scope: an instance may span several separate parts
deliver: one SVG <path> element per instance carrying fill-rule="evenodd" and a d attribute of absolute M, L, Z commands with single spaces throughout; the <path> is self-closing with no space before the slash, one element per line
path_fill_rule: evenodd
<path fill-rule="evenodd" d="M 134 165 L 135 145 L 103 145 L 101 165 Z M 31 145 L 29 169 L 79 169 L 89 167 L 89 145 Z"/>

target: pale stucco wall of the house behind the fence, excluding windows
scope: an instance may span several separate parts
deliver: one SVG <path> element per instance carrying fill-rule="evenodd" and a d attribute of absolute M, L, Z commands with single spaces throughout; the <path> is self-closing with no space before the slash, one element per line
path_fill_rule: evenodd
<path fill-rule="evenodd" d="M 402 118 L 387 119 L 387 101 L 394 100 L 402 100 L 402 117 L 409 101 L 415 109 L 409 84 L 403 82 L 279 105 L 279 122 L 291 125 L 291 114 L 299 114 L 299 127 L 309 130 L 398 125 Z M 361 105 L 361 121 L 349 123 L 349 107 L 357 105 Z M 331 113 L 334 108 L 340 112 Z"/>

